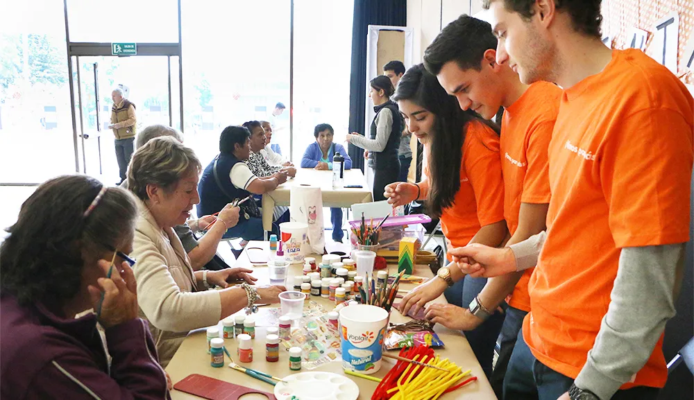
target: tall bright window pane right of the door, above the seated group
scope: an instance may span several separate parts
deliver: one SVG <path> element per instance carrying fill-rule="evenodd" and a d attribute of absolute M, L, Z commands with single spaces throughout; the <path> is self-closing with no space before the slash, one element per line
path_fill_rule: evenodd
<path fill-rule="evenodd" d="M 182 0 L 183 132 L 203 166 L 219 153 L 223 128 L 252 119 L 273 119 L 289 154 L 289 112 L 271 116 L 278 102 L 289 108 L 289 7 Z"/>

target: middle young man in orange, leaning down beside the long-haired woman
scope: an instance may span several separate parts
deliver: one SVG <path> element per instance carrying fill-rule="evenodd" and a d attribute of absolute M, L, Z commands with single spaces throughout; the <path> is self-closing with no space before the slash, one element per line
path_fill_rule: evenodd
<path fill-rule="evenodd" d="M 561 89 L 550 82 L 523 84 L 508 62 L 496 62 L 496 46 L 496 37 L 488 23 L 461 15 L 443 28 L 426 49 L 424 62 L 427 69 L 437 75 L 446 92 L 457 98 L 462 110 L 472 109 L 491 119 L 499 107 L 505 108 L 500 155 L 504 217 L 511 234 L 508 244 L 513 244 L 545 229 L 550 201 L 547 146 L 559 112 Z M 430 320 L 451 329 L 472 331 L 489 318 L 488 311 L 496 310 L 505 297 L 513 293 L 499 336 L 501 351 L 489 377 L 497 397 L 502 396 L 506 365 L 523 318 L 530 311 L 527 282 L 531 273 L 529 269 L 525 273 L 514 272 L 489 279 L 469 308 L 461 309 L 452 304 L 432 304 L 427 308 Z M 434 279 L 407 295 L 407 302 L 403 304 L 405 307 L 408 304 L 422 306 L 438 297 L 445 287 L 441 279 Z M 491 348 L 495 343 L 496 337 L 489 338 Z M 489 354 L 492 354 L 491 349 Z"/>

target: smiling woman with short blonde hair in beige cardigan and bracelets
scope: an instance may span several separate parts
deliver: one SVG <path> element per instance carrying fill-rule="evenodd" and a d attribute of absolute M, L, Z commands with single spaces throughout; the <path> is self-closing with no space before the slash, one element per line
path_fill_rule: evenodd
<path fill-rule="evenodd" d="M 173 137 L 152 139 L 137 149 L 128 167 L 128 188 L 137 197 L 133 258 L 142 315 L 165 367 L 192 329 L 209 327 L 257 299 L 276 303 L 282 286 L 256 288 L 245 268 L 193 271 L 174 233 L 200 201 L 201 164 L 193 151 Z M 221 214 L 220 214 L 221 215 Z M 224 229 L 235 225 L 219 218 Z M 244 282 L 228 287 L 234 281 Z M 221 290 L 207 290 L 221 286 Z"/>

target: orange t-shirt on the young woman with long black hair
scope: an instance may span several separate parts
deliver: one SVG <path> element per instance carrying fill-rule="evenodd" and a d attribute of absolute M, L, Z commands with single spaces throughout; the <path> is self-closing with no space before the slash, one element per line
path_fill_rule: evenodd
<path fill-rule="evenodd" d="M 467 245 L 480 227 L 504 219 L 499 136 L 481 121 L 466 124 L 460 189 L 441 211 L 441 231 L 453 247 Z"/>

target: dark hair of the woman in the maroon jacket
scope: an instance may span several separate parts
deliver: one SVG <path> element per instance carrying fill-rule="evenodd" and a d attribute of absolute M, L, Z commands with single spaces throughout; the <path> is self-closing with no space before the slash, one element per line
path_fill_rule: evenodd
<path fill-rule="evenodd" d="M 0 288 L 19 304 L 60 308 L 79 292 L 82 270 L 108 247 L 132 235 L 137 216 L 133 195 L 110 187 L 83 217 L 103 185 L 86 175 L 44 182 L 22 204 L 17 223 L 0 246 Z"/>

